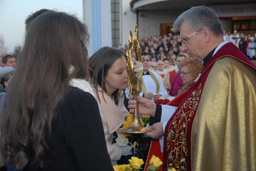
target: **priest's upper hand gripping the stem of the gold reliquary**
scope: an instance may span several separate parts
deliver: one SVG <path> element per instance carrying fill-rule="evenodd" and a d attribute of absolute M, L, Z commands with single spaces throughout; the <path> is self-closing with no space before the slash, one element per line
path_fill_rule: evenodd
<path fill-rule="evenodd" d="M 132 99 L 133 96 L 129 95 L 129 98 Z M 137 101 L 136 101 L 137 100 Z M 129 100 L 128 101 L 128 108 L 130 109 L 129 112 L 133 113 L 134 112 L 134 108 L 136 107 L 136 103 L 139 103 L 139 113 L 143 114 L 143 115 L 150 115 L 150 116 L 155 116 L 155 112 L 156 112 L 156 104 L 149 100 L 146 99 L 144 97 L 141 96 L 137 96 L 136 100 Z"/>

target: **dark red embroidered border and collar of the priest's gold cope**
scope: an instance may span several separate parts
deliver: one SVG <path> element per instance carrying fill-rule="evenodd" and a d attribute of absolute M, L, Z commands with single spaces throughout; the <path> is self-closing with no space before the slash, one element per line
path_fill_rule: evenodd
<path fill-rule="evenodd" d="M 232 43 L 223 45 L 215 53 L 204 67 L 197 82 L 192 83 L 188 90 L 181 94 L 183 97 L 185 96 L 185 98 L 165 127 L 163 170 L 169 168 L 175 168 L 176 170 L 192 170 L 191 130 L 197 114 L 203 87 L 215 62 L 226 56 L 236 58 L 256 71 L 254 64 Z M 168 105 L 172 105 L 172 103 L 168 103 Z"/>

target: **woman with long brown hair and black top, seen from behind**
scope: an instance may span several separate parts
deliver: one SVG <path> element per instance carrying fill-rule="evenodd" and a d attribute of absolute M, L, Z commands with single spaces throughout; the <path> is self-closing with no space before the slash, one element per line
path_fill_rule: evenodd
<path fill-rule="evenodd" d="M 87 28 L 48 10 L 29 21 L 6 94 L 0 162 L 23 170 L 113 170 L 88 78 Z"/>

